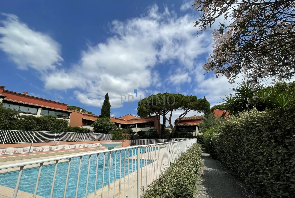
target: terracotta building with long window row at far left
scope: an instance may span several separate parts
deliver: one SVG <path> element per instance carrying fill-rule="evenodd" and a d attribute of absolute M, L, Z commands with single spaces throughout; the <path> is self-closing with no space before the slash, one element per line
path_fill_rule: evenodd
<path fill-rule="evenodd" d="M 0 85 L 0 102 L 4 107 L 15 109 L 22 115 L 56 115 L 60 119 L 70 120 L 70 111 L 67 111 L 68 104 L 55 102 L 35 96 L 30 96 L 28 92 L 17 93 L 4 89 Z"/>

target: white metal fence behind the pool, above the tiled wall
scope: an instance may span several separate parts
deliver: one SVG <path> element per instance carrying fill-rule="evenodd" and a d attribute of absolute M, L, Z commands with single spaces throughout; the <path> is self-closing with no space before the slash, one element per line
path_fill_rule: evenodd
<path fill-rule="evenodd" d="M 0 143 L 76 142 L 111 140 L 113 134 L 0 130 Z"/>

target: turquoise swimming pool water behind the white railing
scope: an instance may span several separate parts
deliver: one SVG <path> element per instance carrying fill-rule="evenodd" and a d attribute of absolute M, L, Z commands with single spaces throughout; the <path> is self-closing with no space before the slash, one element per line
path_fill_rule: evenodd
<path fill-rule="evenodd" d="M 151 148 L 151 150 L 156 150 L 156 148 Z M 151 150 L 142 150 L 142 152 L 144 152 L 144 151 L 150 152 Z M 137 153 L 137 149 L 130 150 L 129 156 L 130 157 L 135 156 L 136 153 Z M 112 153 L 112 155 L 113 155 L 113 153 Z M 87 194 L 94 192 L 96 156 L 97 156 L 97 154 L 91 155 L 89 183 L 88 183 Z M 107 158 L 108 158 L 108 154 L 106 153 L 106 162 L 107 162 Z M 115 173 L 115 166 L 112 166 L 111 167 L 110 183 L 114 182 L 114 175 L 115 174 L 116 174 L 116 180 L 119 179 L 120 177 L 124 177 L 124 175 L 128 175 L 128 160 L 126 160 L 126 163 L 124 164 L 124 159 L 126 159 L 126 158 L 128 158 L 128 149 L 126 150 L 126 156 L 124 155 L 124 150 L 122 150 L 121 175 L 120 175 L 120 173 L 119 173 L 120 152 L 117 151 L 116 173 Z M 80 159 L 80 157 L 76 157 L 76 158 L 72 158 L 72 161 L 71 161 L 68 186 L 67 186 L 67 193 L 66 193 L 66 197 L 69 197 L 69 198 L 75 197 L 75 194 L 76 194 L 79 159 Z M 101 153 L 101 154 L 99 154 L 96 190 L 100 189 L 103 185 L 102 184 L 103 161 L 104 161 L 103 153 Z M 79 188 L 78 188 L 78 197 L 80 197 L 80 198 L 85 196 L 88 162 L 89 162 L 89 156 L 83 156 L 82 163 L 81 163 Z M 140 167 L 146 166 L 149 163 L 151 163 L 151 161 L 149 161 L 149 160 L 142 160 L 142 161 L 140 160 Z M 133 168 L 132 168 L 132 164 L 133 164 Z M 124 174 L 124 166 L 125 166 L 125 174 Z M 50 196 L 54 168 L 55 168 L 55 164 L 43 166 L 37 195 L 40 195 L 42 197 L 49 197 Z M 31 194 L 34 193 L 38 170 L 39 170 L 39 167 L 28 168 L 28 169 L 23 170 L 19 190 L 24 191 L 24 192 L 29 192 Z M 57 169 L 55 185 L 54 185 L 54 192 L 53 192 L 54 198 L 63 197 L 67 170 L 68 170 L 68 162 L 58 163 L 58 169 Z M 136 162 L 136 166 L 135 166 L 135 160 L 129 160 L 129 174 L 131 172 L 134 172 L 135 170 L 137 170 L 137 162 Z M 16 185 L 16 181 L 17 181 L 18 172 L 19 171 L 13 171 L 13 172 L 0 174 L 0 185 L 14 189 L 15 185 Z M 109 184 L 109 167 L 105 166 L 104 186 L 106 186 L 108 184 Z"/>

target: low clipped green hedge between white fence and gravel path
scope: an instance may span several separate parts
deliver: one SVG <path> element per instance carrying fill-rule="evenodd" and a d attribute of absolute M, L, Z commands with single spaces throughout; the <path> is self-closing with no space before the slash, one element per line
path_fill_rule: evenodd
<path fill-rule="evenodd" d="M 150 189 L 142 195 L 142 198 L 192 198 L 201 167 L 201 153 L 201 145 L 193 144 L 175 164 L 171 164 L 165 174 L 149 186 Z"/>

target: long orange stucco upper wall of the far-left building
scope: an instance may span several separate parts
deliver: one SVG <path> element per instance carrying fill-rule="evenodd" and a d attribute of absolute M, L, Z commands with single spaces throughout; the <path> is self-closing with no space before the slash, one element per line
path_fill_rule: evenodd
<path fill-rule="evenodd" d="M 47 107 L 54 107 L 58 109 L 65 109 L 67 110 L 67 104 L 61 104 L 54 101 L 44 100 L 42 98 L 34 98 L 31 96 L 26 96 L 23 94 L 12 93 L 10 91 L 6 91 L 5 89 L 2 91 L 2 95 L 6 96 L 7 99 L 22 101 L 22 102 L 29 102 L 33 104 L 40 104 Z"/>

